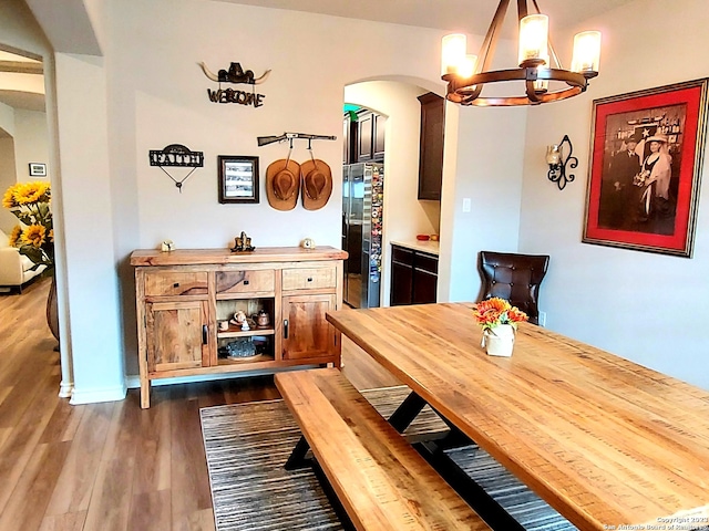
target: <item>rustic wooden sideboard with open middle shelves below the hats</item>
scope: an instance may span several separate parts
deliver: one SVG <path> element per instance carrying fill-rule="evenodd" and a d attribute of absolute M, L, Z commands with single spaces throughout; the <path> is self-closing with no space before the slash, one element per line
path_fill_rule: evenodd
<path fill-rule="evenodd" d="M 342 306 L 346 258 L 331 247 L 134 251 L 141 407 L 150 407 L 151 382 L 158 378 L 339 367 L 339 333 L 325 313 Z M 270 322 L 259 327 L 253 317 L 261 310 Z M 238 311 L 251 317 L 250 330 L 233 323 L 219 330 Z M 242 339 L 256 354 L 226 356 L 226 346 Z"/>

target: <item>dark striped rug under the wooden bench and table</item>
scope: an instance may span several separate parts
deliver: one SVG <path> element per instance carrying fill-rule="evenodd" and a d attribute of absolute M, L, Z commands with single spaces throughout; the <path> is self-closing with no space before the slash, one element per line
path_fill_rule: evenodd
<path fill-rule="evenodd" d="M 409 389 L 362 394 L 388 417 Z M 217 531 L 342 529 L 314 472 L 284 469 L 300 431 L 282 400 L 207 407 L 201 417 Z M 427 407 L 405 435 L 431 438 L 445 429 Z M 576 529 L 477 446 L 449 455 L 525 529 Z"/>

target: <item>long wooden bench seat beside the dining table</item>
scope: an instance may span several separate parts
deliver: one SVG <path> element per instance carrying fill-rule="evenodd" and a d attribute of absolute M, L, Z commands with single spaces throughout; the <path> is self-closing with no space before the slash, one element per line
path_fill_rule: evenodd
<path fill-rule="evenodd" d="M 339 369 L 275 379 L 356 529 L 490 529 Z"/>

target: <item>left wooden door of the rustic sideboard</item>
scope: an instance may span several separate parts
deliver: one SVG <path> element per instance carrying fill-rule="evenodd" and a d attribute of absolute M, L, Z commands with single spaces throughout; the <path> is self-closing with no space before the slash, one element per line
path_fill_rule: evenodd
<path fill-rule="evenodd" d="M 147 371 L 209 365 L 207 301 L 146 304 Z"/>

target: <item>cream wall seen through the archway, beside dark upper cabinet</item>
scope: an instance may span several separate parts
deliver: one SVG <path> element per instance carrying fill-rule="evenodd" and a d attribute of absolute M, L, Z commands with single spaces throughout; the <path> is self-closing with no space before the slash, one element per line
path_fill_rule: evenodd
<path fill-rule="evenodd" d="M 390 242 L 412 240 L 415 235 L 439 231 L 439 219 L 432 220 L 431 208 L 427 208 L 432 201 L 418 199 L 421 103 L 417 96 L 427 92 L 429 90 L 415 84 L 392 81 L 370 81 L 345 87 L 346 103 L 362 105 L 387 116 L 380 285 L 382 305 L 389 305 Z"/>

